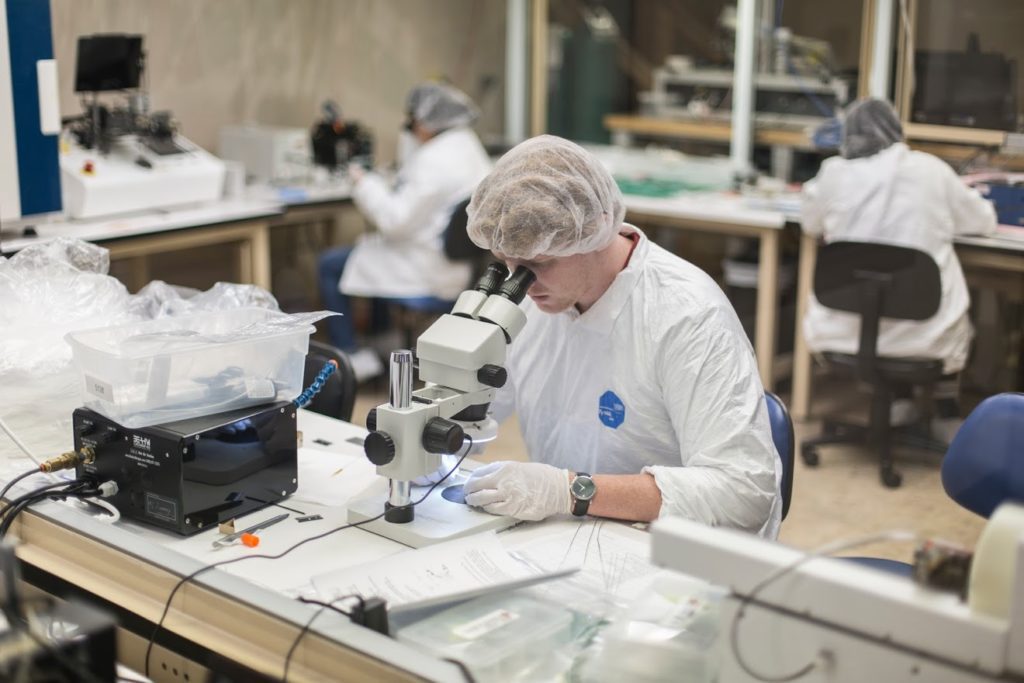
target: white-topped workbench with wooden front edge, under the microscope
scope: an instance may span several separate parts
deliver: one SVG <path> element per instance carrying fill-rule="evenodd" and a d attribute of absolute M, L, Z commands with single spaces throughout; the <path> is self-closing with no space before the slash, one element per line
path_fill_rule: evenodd
<path fill-rule="evenodd" d="M 49 577 L 51 584 L 84 590 L 101 601 L 118 605 L 135 621 L 141 618 L 143 624 L 156 624 L 180 577 L 214 561 L 253 553 L 278 553 L 302 539 L 344 524 L 344 506 L 318 507 L 302 500 L 301 463 L 303 457 L 330 459 L 335 454 L 358 455 L 358 462 L 346 465 L 346 469 L 359 467 L 372 473 L 373 467 L 361 456 L 361 447 L 348 440 L 366 431 L 305 411 L 299 413 L 299 428 L 305 444 L 300 452 L 299 492 L 280 506 L 264 508 L 240 520 L 242 525 L 250 525 L 281 513 L 282 507 L 292 511 L 289 519 L 259 532 L 258 548 L 239 545 L 214 550 L 212 541 L 219 538 L 214 528 L 182 538 L 127 520 L 104 524 L 65 504 L 45 503 L 23 513 L 14 525 L 13 530 L 22 540 L 18 556 L 31 569 L 28 573 Z M 7 471 L 26 469 L 11 466 L 17 458 L 17 452 L 8 440 L 0 441 L 0 462 L 4 462 Z M 25 464 L 31 466 L 27 460 Z M 378 483 L 382 482 L 378 478 Z M 296 511 L 321 514 L 323 519 L 300 523 L 295 520 L 299 516 Z M 585 532 L 578 535 L 578 530 Z M 590 538 L 595 530 L 598 541 L 592 551 Z M 603 551 L 602 532 L 605 535 Z M 628 562 L 625 558 L 615 558 L 614 567 L 606 569 L 604 563 L 612 561 L 609 533 L 628 539 L 632 547 L 642 547 L 643 552 L 631 554 Z M 522 524 L 499 538 L 502 545 L 510 549 L 539 539 L 564 539 L 564 543 L 557 544 L 559 556 L 553 558 L 556 564 L 565 559 L 563 550 L 567 553 L 574 549 L 578 555 L 582 553 L 585 564 L 591 565 L 589 579 L 581 571 L 560 580 L 554 588 L 539 586 L 536 589 L 543 590 L 543 595 L 551 599 L 579 597 L 581 590 L 571 583 L 577 577 L 593 584 L 595 578 L 611 575 L 614 570 L 623 584 L 630 584 L 645 571 L 653 572 L 647 560 L 646 532 L 626 524 L 570 518 Z M 301 626 L 316 611 L 314 606 L 295 599 L 298 595 L 309 595 L 310 579 L 330 570 L 383 560 L 404 550 L 395 542 L 360 528 L 349 528 L 310 542 L 281 559 L 253 559 L 213 569 L 179 591 L 164 628 L 179 639 L 199 643 L 251 671 L 280 677 L 291 643 Z M 629 571 L 622 571 L 623 566 L 628 566 Z M 610 587 L 606 587 L 607 595 L 600 595 L 601 582 L 597 583 L 598 590 L 592 593 L 597 593 L 600 600 L 610 604 L 617 599 Z M 615 584 L 616 589 L 618 585 Z M 632 586 L 635 591 L 635 581 Z M 144 634 L 147 636 L 148 632 Z M 133 651 L 123 653 L 122 660 L 141 671 L 144 669 L 141 659 L 144 647 L 139 645 L 138 639 L 135 645 Z M 175 656 L 157 648 L 151 657 L 151 672 L 160 671 L 165 663 L 178 660 Z M 355 627 L 328 610 L 317 617 L 296 649 L 289 680 L 343 677 L 463 680 L 455 666 Z"/>

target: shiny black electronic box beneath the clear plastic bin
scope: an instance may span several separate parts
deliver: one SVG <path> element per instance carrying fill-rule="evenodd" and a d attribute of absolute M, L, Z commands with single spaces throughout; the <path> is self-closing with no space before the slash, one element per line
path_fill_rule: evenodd
<path fill-rule="evenodd" d="M 109 500 L 125 517 L 195 533 L 295 493 L 295 419 L 279 401 L 132 429 L 80 408 L 75 447 L 96 458 L 77 474 L 117 482 Z"/>

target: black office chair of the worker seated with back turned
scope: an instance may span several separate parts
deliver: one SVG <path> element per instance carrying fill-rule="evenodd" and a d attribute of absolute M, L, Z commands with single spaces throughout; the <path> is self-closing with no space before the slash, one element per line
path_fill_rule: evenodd
<path fill-rule="evenodd" d="M 908 385 L 934 385 L 942 377 L 942 359 L 878 354 L 882 318 L 928 319 L 938 311 L 941 295 L 938 265 L 915 249 L 835 242 L 818 251 L 814 296 L 828 308 L 860 315 L 857 353 L 825 352 L 824 358 L 871 386 L 871 410 L 866 428 L 826 419 L 820 436 L 801 443 L 800 455 L 809 467 L 818 465 L 818 446 L 867 442 L 878 449 L 882 482 L 896 487 L 902 477 L 893 466 L 892 441 L 945 452 L 945 444 L 936 439 L 894 431 L 889 416 L 894 390 Z"/>

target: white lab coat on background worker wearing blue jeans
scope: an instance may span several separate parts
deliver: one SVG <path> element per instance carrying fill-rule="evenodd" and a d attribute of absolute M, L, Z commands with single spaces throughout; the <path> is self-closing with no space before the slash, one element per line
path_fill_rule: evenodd
<path fill-rule="evenodd" d="M 471 267 L 444 256 L 444 228 L 455 206 L 489 171 L 476 133 L 459 127 L 413 152 L 393 188 L 380 175 L 367 174 L 352 200 L 377 231 L 356 244 L 339 289 L 351 296 L 455 299 L 469 284 Z"/>

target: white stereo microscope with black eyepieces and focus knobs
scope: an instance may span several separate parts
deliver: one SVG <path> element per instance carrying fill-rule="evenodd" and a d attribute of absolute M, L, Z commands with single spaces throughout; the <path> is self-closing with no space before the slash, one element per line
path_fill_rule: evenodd
<path fill-rule="evenodd" d="M 492 263 L 417 340 L 424 388 L 412 390 L 412 351 L 391 354 L 389 402 L 371 412 L 365 442 L 377 473 L 388 478 L 387 500 L 353 503 L 350 522 L 413 548 L 516 523 L 465 505 L 458 473 L 422 502 L 426 489 L 413 488 L 414 479 L 438 470 L 441 456 L 463 451 L 467 428 L 486 429 L 487 405 L 507 379 L 506 346 L 526 324 L 519 303 L 535 279 L 524 267 L 507 276 L 505 266 Z"/>

